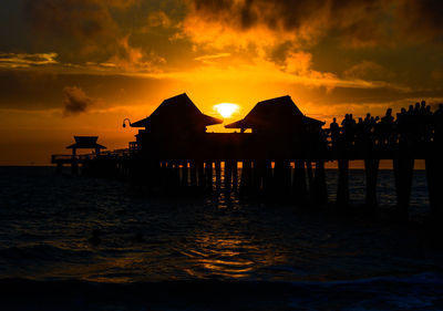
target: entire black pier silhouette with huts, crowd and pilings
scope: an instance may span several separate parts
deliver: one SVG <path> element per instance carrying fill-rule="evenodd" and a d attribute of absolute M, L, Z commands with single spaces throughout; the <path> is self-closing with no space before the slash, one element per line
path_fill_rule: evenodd
<path fill-rule="evenodd" d="M 358 121 L 347 114 L 340 124 L 333 118 L 322 128 L 323 122 L 307 117 L 290 96 L 281 96 L 257 103 L 244 118 L 225 126 L 239 133 L 207 133 L 207 126 L 223 121 L 203 114 L 181 94 L 165 100 L 151 116 L 128 122 L 140 131 L 127 149 L 100 152 L 104 147 L 94 145 L 95 137 L 82 145 L 94 154 L 53 155 L 52 163 L 59 170 L 71 164 L 75 174 L 80 166 L 84 175 L 126 178 L 167 194 L 224 189 L 322 205 L 328 201 L 324 164 L 337 160 L 336 203 L 346 208 L 349 162 L 364 160 L 365 204 L 374 207 L 379 164 L 390 159 L 396 207 L 408 217 L 414 160 L 424 159 L 432 215 L 441 218 L 443 105 L 432 112 L 421 102 L 395 117 L 392 113 L 388 108 L 381 118 L 368 113 Z"/>

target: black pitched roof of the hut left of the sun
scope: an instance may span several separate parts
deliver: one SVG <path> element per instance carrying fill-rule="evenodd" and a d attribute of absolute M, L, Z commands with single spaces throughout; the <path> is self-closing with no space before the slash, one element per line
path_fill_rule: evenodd
<path fill-rule="evenodd" d="M 203 114 L 190 99 L 183 93 L 167 99 L 146 118 L 132 123 L 132 127 L 157 127 L 181 125 L 213 125 L 222 120 Z"/>

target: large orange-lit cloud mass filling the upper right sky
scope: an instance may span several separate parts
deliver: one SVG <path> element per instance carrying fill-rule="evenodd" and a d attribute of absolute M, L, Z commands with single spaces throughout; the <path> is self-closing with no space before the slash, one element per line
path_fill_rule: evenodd
<path fill-rule="evenodd" d="M 306 85 L 418 87 L 420 81 L 410 76 L 414 75 L 413 62 L 419 54 L 411 52 L 411 46 L 425 44 L 427 49 L 443 43 L 443 2 L 436 0 L 186 3 L 188 12 L 182 33 L 193 42 L 195 51 L 209 55 L 228 51 L 233 54 L 229 59 L 243 55 L 245 63 L 256 59 L 274 62 L 274 70 Z M 441 48 L 443 44 L 433 49 Z M 408 61 L 400 64 L 406 59 L 406 51 Z M 399 53 L 399 58 L 391 62 L 383 53 Z M 422 72 L 430 76 L 424 71 L 429 70 Z"/>

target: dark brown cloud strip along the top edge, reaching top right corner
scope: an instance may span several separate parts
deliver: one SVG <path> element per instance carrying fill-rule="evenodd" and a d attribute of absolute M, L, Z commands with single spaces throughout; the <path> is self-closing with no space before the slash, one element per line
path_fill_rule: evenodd
<path fill-rule="evenodd" d="M 188 0 L 192 14 L 247 31 L 266 27 L 316 40 L 334 33 L 347 45 L 435 40 L 443 34 L 440 0 Z M 394 42 L 393 42 L 394 41 Z"/>

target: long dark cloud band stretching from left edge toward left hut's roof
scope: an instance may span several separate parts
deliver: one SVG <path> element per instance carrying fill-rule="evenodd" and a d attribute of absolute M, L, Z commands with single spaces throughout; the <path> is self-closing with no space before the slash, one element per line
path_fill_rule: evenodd
<path fill-rule="evenodd" d="M 75 85 L 89 97 L 100 99 L 96 108 L 148 104 L 142 99 L 163 100 L 173 92 L 171 80 L 111 74 L 53 74 L 47 71 L 0 69 L 0 111 L 59 111 L 66 85 Z M 169 86 L 171 85 L 171 86 Z"/>

